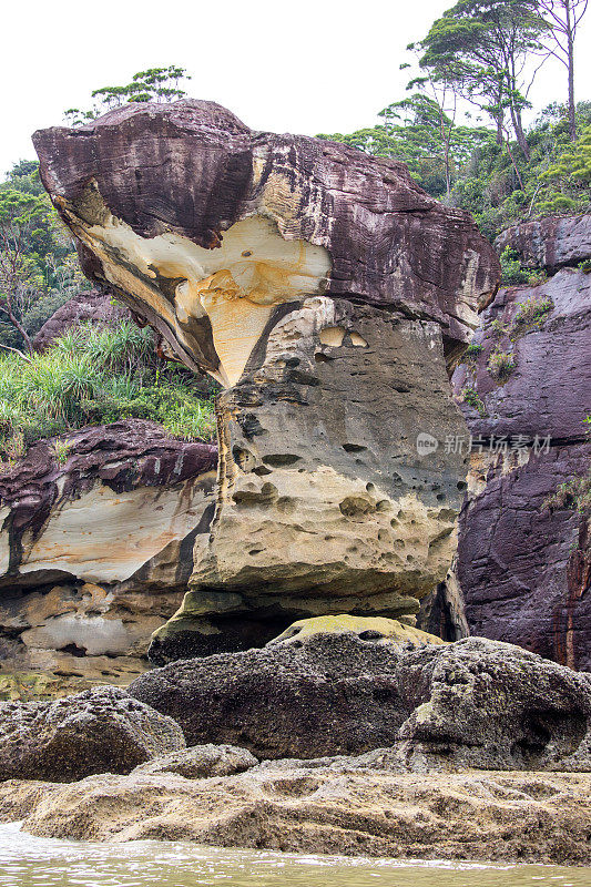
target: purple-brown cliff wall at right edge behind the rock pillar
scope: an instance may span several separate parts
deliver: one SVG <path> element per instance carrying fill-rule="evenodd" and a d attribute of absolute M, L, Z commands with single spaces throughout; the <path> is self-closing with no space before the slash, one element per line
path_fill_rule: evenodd
<path fill-rule="evenodd" d="M 507 236 L 530 244 L 536 230 L 542 245 L 550 238 L 543 248 L 556 252 L 554 222 L 528 223 Z M 577 257 L 591 256 L 584 235 L 589 217 L 557 225 L 557 232 L 571 232 L 569 248 Z M 532 315 L 532 308 L 544 305 L 550 310 Z M 523 315 L 529 323 L 519 323 Z M 473 343 L 481 350 L 452 377 L 476 442 L 457 564 L 440 594 L 444 609 L 448 589 L 457 591 L 459 583 L 473 634 L 589 671 L 591 514 L 582 500 L 567 496 L 557 502 L 554 497 L 591 471 L 585 424 L 591 411 L 591 276 L 564 267 L 539 286 L 501 289 Z M 496 350 L 514 361 L 505 380 L 488 368 Z M 473 397 L 472 405 L 466 401 L 469 389 L 479 398 L 476 406 Z M 420 625 L 435 628 L 428 620 Z"/>

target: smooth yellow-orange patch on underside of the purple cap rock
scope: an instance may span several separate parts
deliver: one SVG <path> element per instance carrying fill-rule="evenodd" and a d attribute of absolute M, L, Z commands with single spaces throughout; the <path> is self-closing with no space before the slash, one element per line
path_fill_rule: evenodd
<path fill-rule="evenodd" d="M 101 206 L 100 194 L 92 202 Z M 273 217 L 243 218 L 218 248 L 204 249 L 173 233 L 141 237 L 104 204 L 94 224 L 63 211 L 108 281 L 164 319 L 190 353 L 196 339 L 213 359 L 204 368 L 224 386 L 242 376 L 273 308 L 324 292 L 330 272 L 324 247 L 284 239 Z"/>

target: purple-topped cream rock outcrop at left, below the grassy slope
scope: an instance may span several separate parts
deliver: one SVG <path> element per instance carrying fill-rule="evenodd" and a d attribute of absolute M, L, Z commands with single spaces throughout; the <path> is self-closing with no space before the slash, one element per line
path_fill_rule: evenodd
<path fill-rule="evenodd" d="M 68 440 L 65 462 L 40 441 L 0 476 L 0 665 L 16 673 L 11 694 L 32 692 L 40 672 L 70 689 L 142 672 L 213 517 L 216 447 L 143 420 Z"/>

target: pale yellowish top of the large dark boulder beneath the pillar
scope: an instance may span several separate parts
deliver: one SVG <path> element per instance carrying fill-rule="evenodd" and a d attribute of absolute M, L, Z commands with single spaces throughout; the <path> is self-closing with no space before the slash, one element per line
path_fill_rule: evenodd
<path fill-rule="evenodd" d="M 294 642 L 296 639 L 300 641 L 313 634 L 345 633 L 357 634 L 364 640 L 374 640 L 377 642 L 380 640 L 390 643 L 395 641 L 401 645 L 411 644 L 412 646 L 422 646 L 425 644 L 445 643 L 445 641 L 437 638 L 435 634 L 419 631 L 419 629 L 415 629 L 412 625 L 405 625 L 397 619 L 351 616 L 346 614 L 299 619 L 269 643 L 289 643 Z"/>

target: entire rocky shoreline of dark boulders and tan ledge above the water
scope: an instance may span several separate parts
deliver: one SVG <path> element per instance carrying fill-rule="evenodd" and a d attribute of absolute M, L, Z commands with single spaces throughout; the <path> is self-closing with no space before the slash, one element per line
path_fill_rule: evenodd
<path fill-rule="evenodd" d="M 129 693 L 4 703 L 0 819 L 75 840 L 590 864 L 591 676 L 361 629 L 181 660 Z"/>

